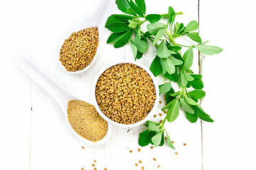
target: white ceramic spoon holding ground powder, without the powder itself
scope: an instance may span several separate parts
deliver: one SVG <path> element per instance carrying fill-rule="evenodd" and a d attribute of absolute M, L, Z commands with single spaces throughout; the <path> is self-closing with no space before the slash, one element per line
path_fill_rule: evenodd
<path fill-rule="evenodd" d="M 72 94 L 68 93 L 68 91 L 65 91 L 62 86 L 59 86 L 53 79 L 50 79 L 41 69 L 36 67 L 31 60 L 28 60 L 25 57 L 18 57 L 16 60 L 16 64 L 18 67 L 28 75 L 31 79 L 36 81 L 37 84 L 39 84 L 43 89 L 45 89 L 48 94 L 53 96 L 55 101 L 59 104 L 61 110 L 63 111 L 63 114 L 65 116 L 65 120 L 67 121 L 68 125 L 70 126 L 70 129 L 73 131 L 76 137 L 78 137 L 82 142 L 85 142 L 87 144 L 91 145 L 97 145 L 97 144 L 102 144 L 105 142 L 109 137 L 110 137 L 110 132 L 111 132 L 111 125 L 110 123 L 108 124 L 108 130 L 107 130 L 107 135 L 100 141 L 98 142 L 92 142 L 90 140 L 85 140 L 85 138 L 81 137 L 78 135 L 77 132 L 73 130 L 71 127 L 70 123 L 68 122 L 68 101 L 70 100 L 80 100 L 80 98 L 77 98 L 73 96 Z"/>

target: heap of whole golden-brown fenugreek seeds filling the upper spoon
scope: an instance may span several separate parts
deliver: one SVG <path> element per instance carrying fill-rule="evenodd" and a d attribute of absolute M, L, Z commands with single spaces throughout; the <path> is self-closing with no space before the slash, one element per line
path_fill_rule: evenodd
<path fill-rule="evenodd" d="M 60 62 L 68 72 L 87 67 L 97 52 L 99 31 L 97 27 L 72 33 L 60 49 Z"/>

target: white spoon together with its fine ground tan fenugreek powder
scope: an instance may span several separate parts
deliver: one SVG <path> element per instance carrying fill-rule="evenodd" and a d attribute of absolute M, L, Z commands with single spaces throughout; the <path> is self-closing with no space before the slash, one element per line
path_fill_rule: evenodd
<path fill-rule="evenodd" d="M 31 60 L 18 57 L 18 67 L 36 81 L 60 106 L 73 133 L 87 144 L 101 144 L 110 137 L 110 124 L 97 113 L 94 106 L 73 96 L 50 79 Z"/>

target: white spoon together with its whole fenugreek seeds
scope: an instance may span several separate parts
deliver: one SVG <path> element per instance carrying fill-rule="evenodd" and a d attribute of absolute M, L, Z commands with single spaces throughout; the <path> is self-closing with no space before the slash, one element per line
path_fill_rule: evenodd
<path fill-rule="evenodd" d="M 59 51 L 60 67 L 65 72 L 85 72 L 95 62 L 105 23 L 113 6 L 114 0 L 100 1 L 90 21 L 65 38 Z"/>

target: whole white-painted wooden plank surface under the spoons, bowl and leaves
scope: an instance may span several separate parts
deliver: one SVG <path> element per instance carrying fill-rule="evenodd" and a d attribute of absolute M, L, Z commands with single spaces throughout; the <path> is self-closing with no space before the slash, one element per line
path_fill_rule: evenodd
<path fill-rule="evenodd" d="M 58 52 L 64 38 L 90 19 L 100 0 L 1 0 L 0 56 L 4 64 L 0 67 L 0 169 L 93 169 L 92 164 L 97 169 L 108 170 L 142 169 L 142 166 L 156 169 L 158 165 L 164 170 L 198 170 L 202 165 L 204 170 L 255 169 L 256 126 L 252 107 L 256 101 L 251 87 L 255 82 L 252 74 L 256 62 L 252 45 L 255 35 L 245 26 L 250 22 L 252 28 L 255 26 L 250 18 L 255 16 L 253 3 L 249 0 L 199 2 L 146 0 L 146 13 L 167 13 L 168 7 L 173 6 L 177 12 L 184 13 L 176 18 L 178 22 L 186 25 L 199 18 L 202 40 L 210 40 L 210 44 L 224 49 L 220 55 L 201 55 L 201 62 L 198 52 L 194 52 L 192 69 L 196 73 L 201 69 L 205 83 L 206 98 L 202 106 L 215 120 L 202 126 L 203 162 L 201 123 L 189 123 L 182 112 L 174 123 L 166 125 L 175 150 L 167 146 L 139 147 L 138 134 L 145 129 L 143 125 L 132 129 L 112 127 L 110 140 L 105 144 L 85 145 L 73 135 L 53 98 L 16 67 L 17 56 L 31 58 L 70 93 L 91 101 L 92 81 L 102 67 L 111 62 L 134 60 L 129 45 L 115 49 L 103 43 L 96 62 L 87 72 L 67 74 L 60 69 Z M 119 11 L 115 7 L 112 13 Z M 109 35 L 110 31 L 105 30 L 100 41 L 106 42 Z M 193 44 L 188 38 L 177 42 Z M 155 49 L 149 48 L 139 62 L 149 67 L 155 55 Z M 163 83 L 162 77 L 157 79 L 159 84 Z M 161 113 L 162 106 L 164 103 L 156 115 Z M 151 118 L 161 119 L 159 115 Z"/>

